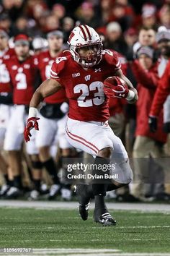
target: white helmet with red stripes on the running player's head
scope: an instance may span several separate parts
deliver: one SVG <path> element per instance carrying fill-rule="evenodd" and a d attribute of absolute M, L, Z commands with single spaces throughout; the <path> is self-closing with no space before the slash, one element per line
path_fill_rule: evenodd
<path fill-rule="evenodd" d="M 102 59 L 102 41 L 92 27 L 87 25 L 75 27 L 68 44 L 73 59 L 82 67 L 93 67 Z"/>

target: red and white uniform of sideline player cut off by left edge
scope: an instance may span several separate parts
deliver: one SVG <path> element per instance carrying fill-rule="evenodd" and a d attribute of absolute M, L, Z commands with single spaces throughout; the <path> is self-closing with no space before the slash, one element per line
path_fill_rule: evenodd
<path fill-rule="evenodd" d="M 7 61 L 14 56 L 14 49 L 7 48 L 5 51 L 0 52 L 0 95 L 8 97 L 12 93 L 12 86 L 10 82 L 9 72 L 6 69 L 4 61 Z M 6 134 L 6 127 L 9 118 L 12 114 L 12 104 L 0 103 L 0 149 L 4 146 L 4 137 Z"/>

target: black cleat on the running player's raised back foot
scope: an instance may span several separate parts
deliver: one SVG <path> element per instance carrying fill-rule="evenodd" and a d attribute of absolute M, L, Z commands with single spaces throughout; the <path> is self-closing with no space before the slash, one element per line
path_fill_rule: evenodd
<path fill-rule="evenodd" d="M 88 191 L 89 185 L 76 184 L 76 195 L 79 199 L 79 213 L 82 220 L 86 221 L 89 214 L 90 198 L 93 196 Z"/>

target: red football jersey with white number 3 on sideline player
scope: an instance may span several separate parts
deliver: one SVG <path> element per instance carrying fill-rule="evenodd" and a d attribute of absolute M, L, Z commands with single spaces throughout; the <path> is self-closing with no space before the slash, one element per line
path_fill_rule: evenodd
<path fill-rule="evenodd" d="M 25 61 L 19 61 L 17 56 L 13 56 L 5 63 L 12 82 L 14 104 L 29 105 L 37 71 L 34 56 L 29 56 Z"/>

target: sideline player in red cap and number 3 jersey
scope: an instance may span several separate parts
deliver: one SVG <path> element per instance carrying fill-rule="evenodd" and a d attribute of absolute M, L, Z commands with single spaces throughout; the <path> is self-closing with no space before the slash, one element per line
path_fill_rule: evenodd
<path fill-rule="evenodd" d="M 14 38 L 16 56 L 5 61 L 6 69 L 12 83 L 14 109 L 9 119 L 4 140 L 4 150 L 8 153 L 9 167 L 14 177 L 14 185 L 6 193 L 6 197 L 18 197 L 22 192 L 22 142 L 24 121 L 27 119 L 27 106 L 35 91 L 36 68 L 34 57 L 30 56 L 30 42 L 27 35 L 19 34 Z M 38 151 L 35 148 L 34 137 L 27 147 L 27 153 L 32 155 L 32 167 L 41 168 L 38 161 Z M 35 182 L 36 183 L 36 182 Z"/>

